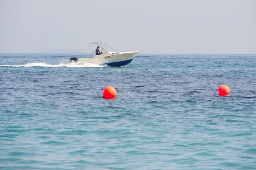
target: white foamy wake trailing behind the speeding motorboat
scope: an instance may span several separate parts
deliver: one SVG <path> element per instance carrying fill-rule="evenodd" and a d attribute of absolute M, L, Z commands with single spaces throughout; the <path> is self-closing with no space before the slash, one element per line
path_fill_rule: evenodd
<path fill-rule="evenodd" d="M 92 63 L 79 63 L 79 62 L 68 62 L 64 63 L 61 62 L 56 65 L 47 64 L 46 62 L 32 62 L 24 65 L 0 65 L 0 67 L 105 67 L 106 65 L 98 65 L 98 64 L 92 64 Z"/>

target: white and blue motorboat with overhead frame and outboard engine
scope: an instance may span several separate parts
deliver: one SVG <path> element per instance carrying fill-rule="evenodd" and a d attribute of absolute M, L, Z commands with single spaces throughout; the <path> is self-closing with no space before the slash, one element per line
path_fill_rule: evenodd
<path fill-rule="evenodd" d="M 115 66 L 115 67 L 121 67 L 124 65 L 127 65 L 136 57 L 136 54 L 139 53 L 139 51 L 126 51 L 126 52 L 118 52 L 105 44 L 104 42 L 92 42 L 91 47 L 93 46 L 99 46 L 99 51 L 102 52 L 102 54 L 94 55 L 95 50 L 93 49 L 93 54 L 91 58 L 76 58 L 73 57 L 70 59 L 70 62 L 87 62 L 87 63 L 93 63 L 93 64 L 99 64 L 99 65 L 109 65 L 109 66 Z M 111 49 L 107 51 L 107 49 Z"/>

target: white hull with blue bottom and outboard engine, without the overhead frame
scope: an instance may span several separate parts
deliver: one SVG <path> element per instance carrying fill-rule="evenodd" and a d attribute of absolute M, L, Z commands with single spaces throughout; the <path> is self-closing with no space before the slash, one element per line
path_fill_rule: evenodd
<path fill-rule="evenodd" d="M 74 58 L 70 59 L 70 62 L 87 62 L 99 65 L 110 65 L 110 66 L 124 66 L 131 62 L 136 57 L 136 54 L 139 51 L 130 51 L 130 52 L 111 52 L 101 55 L 96 55 L 92 58 L 79 58 L 74 60 Z"/>

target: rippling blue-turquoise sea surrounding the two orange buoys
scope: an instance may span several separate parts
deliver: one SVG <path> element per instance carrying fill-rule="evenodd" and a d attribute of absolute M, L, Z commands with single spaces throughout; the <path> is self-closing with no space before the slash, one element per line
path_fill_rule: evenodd
<path fill-rule="evenodd" d="M 89 56 L 0 54 L 0 169 L 256 169 L 256 55 Z"/>

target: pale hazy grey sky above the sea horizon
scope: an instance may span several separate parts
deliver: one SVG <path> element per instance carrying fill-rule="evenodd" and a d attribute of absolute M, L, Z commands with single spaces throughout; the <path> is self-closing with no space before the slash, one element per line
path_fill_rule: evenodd
<path fill-rule="evenodd" d="M 256 54 L 256 0 L 0 0 L 0 53 Z"/>

